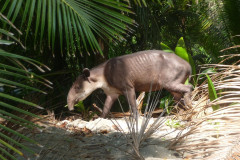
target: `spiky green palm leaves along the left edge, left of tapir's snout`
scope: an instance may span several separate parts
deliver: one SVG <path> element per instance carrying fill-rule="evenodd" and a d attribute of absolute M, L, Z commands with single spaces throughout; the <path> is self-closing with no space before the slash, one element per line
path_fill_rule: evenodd
<path fill-rule="evenodd" d="M 1 23 L 5 23 L 8 27 L 16 27 L 0 13 Z M 17 29 L 16 29 L 17 30 Z M 20 34 L 21 32 L 17 30 Z M 7 39 L 7 40 L 6 40 Z M 51 84 L 41 76 L 38 76 L 30 70 L 37 68 L 44 72 L 47 66 L 33 59 L 13 54 L 3 50 L 3 45 L 13 45 L 15 42 L 20 43 L 13 33 L 0 29 L 0 159 L 16 159 L 13 155 L 19 154 L 25 156 L 23 150 L 34 154 L 31 148 L 21 143 L 20 140 L 26 140 L 33 144 L 38 144 L 24 134 L 21 134 L 22 128 L 35 128 L 36 124 L 25 119 L 26 117 L 39 118 L 37 115 L 24 110 L 20 105 L 29 106 L 29 109 L 40 108 L 37 104 L 24 99 L 24 92 L 40 92 L 45 93 L 33 87 L 34 84 L 46 85 Z M 21 44 L 21 43 L 20 43 Z"/>

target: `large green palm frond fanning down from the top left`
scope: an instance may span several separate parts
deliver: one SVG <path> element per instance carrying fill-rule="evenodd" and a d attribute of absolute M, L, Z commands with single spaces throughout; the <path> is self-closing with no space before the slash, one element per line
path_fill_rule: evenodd
<path fill-rule="evenodd" d="M 25 40 L 30 31 L 34 33 L 35 48 L 48 45 L 54 51 L 56 42 L 61 51 L 82 52 L 84 47 L 87 52 L 102 53 L 97 36 L 122 40 L 129 31 L 128 25 L 133 24 L 125 15 L 132 13 L 128 7 L 114 0 L 13 0 L 6 1 L 0 9 L 11 21 L 20 19 L 19 27 L 26 30 Z"/>

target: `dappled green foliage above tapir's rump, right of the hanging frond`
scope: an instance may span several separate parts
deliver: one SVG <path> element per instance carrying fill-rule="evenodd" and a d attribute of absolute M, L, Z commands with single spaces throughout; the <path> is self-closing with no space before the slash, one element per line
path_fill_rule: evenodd
<path fill-rule="evenodd" d="M 158 49 L 160 42 L 173 48 L 179 37 L 184 37 L 187 52 L 194 60 L 201 58 L 211 63 L 220 61 L 220 50 L 232 46 L 226 21 L 221 16 L 221 1 L 211 0 L 162 0 L 146 1 L 147 7 L 132 3 L 139 24 L 136 28 L 138 45 L 128 44 L 132 52 L 145 49 Z M 201 50 L 192 50 L 194 45 Z M 205 55 L 207 54 L 207 57 Z M 200 57 L 201 56 L 201 57 Z M 195 62 L 196 65 L 196 62 Z"/>

